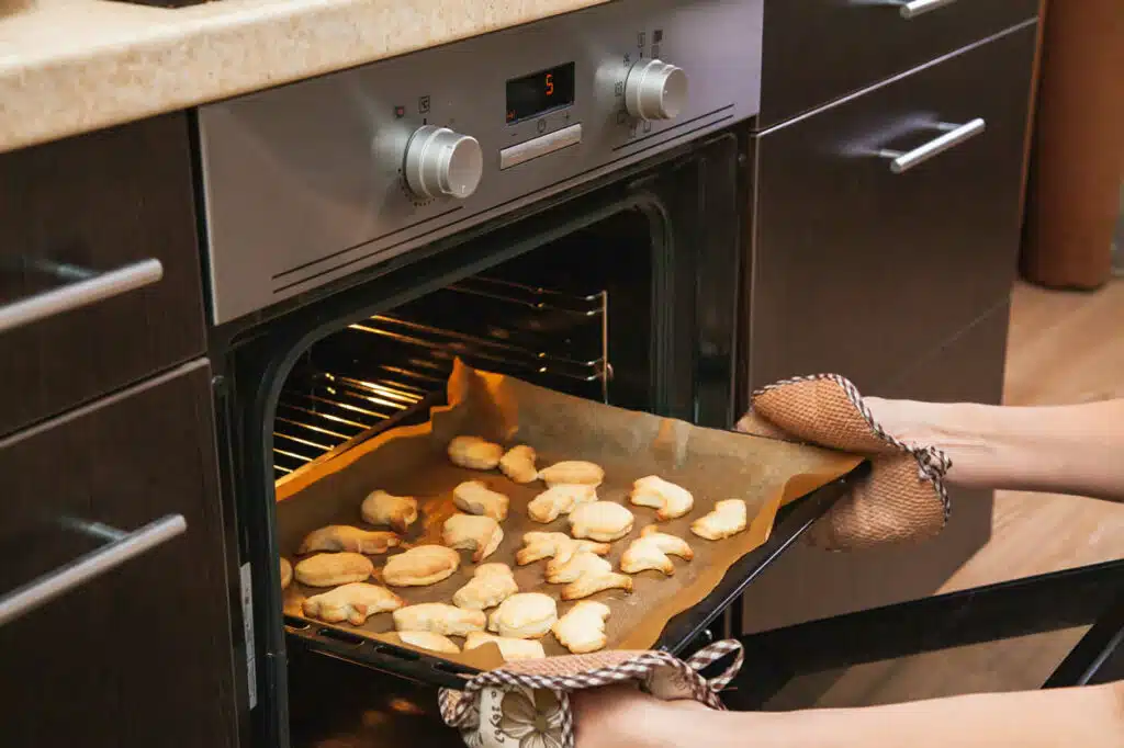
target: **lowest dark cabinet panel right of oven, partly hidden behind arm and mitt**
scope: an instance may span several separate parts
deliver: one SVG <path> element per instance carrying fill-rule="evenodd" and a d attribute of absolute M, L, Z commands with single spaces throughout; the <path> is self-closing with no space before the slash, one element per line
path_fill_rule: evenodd
<path fill-rule="evenodd" d="M 903 376 L 869 394 L 935 402 L 999 402 L 1009 307 L 1000 304 Z M 991 533 L 991 492 L 952 489 L 952 516 L 933 539 L 859 553 L 791 548 L 750 585 L 747 631 L 916 600 L 940 586 Z"/>

